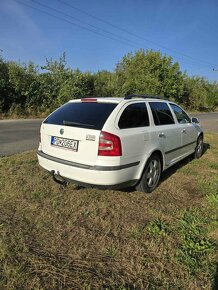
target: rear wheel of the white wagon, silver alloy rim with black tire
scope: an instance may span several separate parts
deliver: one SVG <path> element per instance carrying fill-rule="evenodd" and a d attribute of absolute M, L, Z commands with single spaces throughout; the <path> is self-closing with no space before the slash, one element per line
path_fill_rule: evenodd
<path fill-rule="evenodd" d="M 145 165 L 144 172 L 136 186 L 137 191 L 150 193 L 159 183 L 161 175 L 161 161 L 157 154 L 153 154 Z"/>

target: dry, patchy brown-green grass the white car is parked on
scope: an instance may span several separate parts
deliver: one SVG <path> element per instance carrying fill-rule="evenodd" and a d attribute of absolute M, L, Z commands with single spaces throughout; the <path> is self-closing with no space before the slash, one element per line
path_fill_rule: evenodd
<path fill-rule="evenodd" d="M 149 195 L 60 189 L 36 153 L 0 159 L 0 289 L 217 289 L 218 135 Z"/>

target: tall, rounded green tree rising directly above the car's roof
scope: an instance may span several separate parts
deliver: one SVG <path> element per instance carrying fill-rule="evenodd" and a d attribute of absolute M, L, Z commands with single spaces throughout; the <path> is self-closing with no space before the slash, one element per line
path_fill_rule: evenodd
<path fill-rule="evenodd" d="M 117 64 L 114 82 L 117 96 L 144 93 L 179 100 L 183 93 L 179 64 L 152 50 L 125 55 Z"/>

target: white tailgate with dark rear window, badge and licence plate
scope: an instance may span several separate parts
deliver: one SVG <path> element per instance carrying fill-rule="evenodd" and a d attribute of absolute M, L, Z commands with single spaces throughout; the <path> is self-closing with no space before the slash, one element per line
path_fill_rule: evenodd
<path fill-rule="evenodd" d="M 94 165 L 101 129 L 115 103 L 69 102 L 41 126 L 41 149 L 51 156 Z"/>

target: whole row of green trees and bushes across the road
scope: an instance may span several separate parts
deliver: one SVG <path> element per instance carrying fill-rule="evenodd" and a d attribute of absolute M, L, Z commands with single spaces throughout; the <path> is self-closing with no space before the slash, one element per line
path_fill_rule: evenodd
<path fill-rule="evenodd" d="M 70 99 L 123 97 L 128 94 L 164 96 L 190 110 L 214 110 L 218 83 L 180 70 L 172 57 L 153 50 L 125 55 L 115 70 L 81 72 L 67 66 L 65 53 L 39 67 L 0 57 L 0 113 L 46 115 Z"/>

